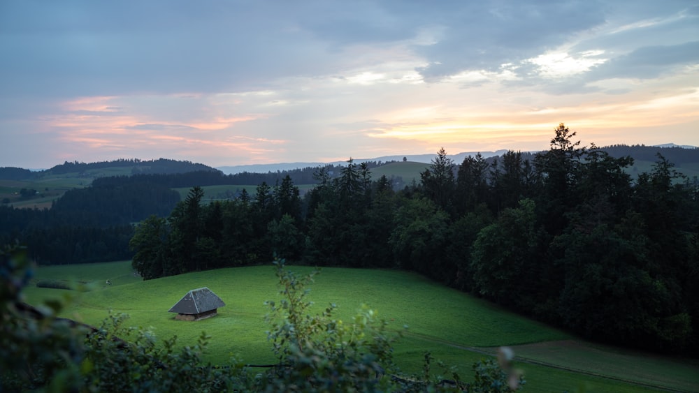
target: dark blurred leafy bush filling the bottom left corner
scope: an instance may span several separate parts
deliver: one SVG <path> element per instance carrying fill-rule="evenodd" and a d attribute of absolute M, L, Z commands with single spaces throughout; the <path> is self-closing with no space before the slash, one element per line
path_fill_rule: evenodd
<path fill-rule="evenodd" d="M 220 392 L 245 383 L 242 366 L 203 364 L 205 334 L 175 350 L 176 337 L 156 345 L 121 314 L 95 328 L 57 318 L 63 302 L 24 304 L 32 276 L 24 250 L 8 247 L 0 258 L 0 391 Z"/>

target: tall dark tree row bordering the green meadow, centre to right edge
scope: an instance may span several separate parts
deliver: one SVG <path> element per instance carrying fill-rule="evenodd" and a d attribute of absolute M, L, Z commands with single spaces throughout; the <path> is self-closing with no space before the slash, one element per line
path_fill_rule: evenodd
<path fill-rule="evenodd" d="M 455 165 L 442 149 L 420 184 L 394 191 L 352 160 L 299 197 L 288 175 L 256 195 L 203 204 L 194 187 L 167 218 L 138 225 L 144 279 L 269 262 L 410 269 L 589 339 L 698 348 L 699 184 L 656 157 L 551 147 Z"/>

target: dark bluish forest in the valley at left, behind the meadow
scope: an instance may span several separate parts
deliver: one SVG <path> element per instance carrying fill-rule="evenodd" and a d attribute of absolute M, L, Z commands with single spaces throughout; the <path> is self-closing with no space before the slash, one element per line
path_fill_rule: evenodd
<path fill-rule="evenodd" d="M 52 265 L 124 260 L 133 255 L 132 223 L 167 216 L 180 195 L 168 186 L 134 181 L 66 191 L 51 209 L 0 206 L 0 242 L 21 242 L 31 258 Z"/>

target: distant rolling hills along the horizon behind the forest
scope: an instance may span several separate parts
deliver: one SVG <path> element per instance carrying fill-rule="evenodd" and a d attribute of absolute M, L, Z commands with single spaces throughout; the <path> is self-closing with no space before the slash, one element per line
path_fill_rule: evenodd
<path fill-rule="evenodd" d="M 628 173 L 633 177 L 637 177 L 642 172 L 652 170 L 654 163 L 658 160 L 657 154 L 662 154 L 670 163 L 675 164 L 675 170 L 680 174 L 693 179 L 699 177 L 699 149 L 690 147 L 678 147 L 674 144 L 664 144 L 662 146 L 627 146 L 615 145 L 603 147 L 611 156 L 631 156 L 634 158 L 634 165 L 628 168 Z M 498 154 L 503 154 L 505 151 L 485 152 L 484 158 L 492 161 Z M 452 159 L 455 165 L 463 162 L 466 156 L 473 156 L 476 153 L 459 153 L 448 156 Z M 403 158 L 407 161 L 404 162 Z M 373 158 L 371 160 L 356 160 L 357 163 L 362 161 L 372 161 L 374 163 L 383 163 L 380 166 L 371 169 L 372 179 L 378 179 L 385 175 L 389 179 L 394 178 L 394 187 L 403 188 L 409 185 L 413 180 L 417 183 L 420 181 L 420 172 L 423 172 L 430 165 L 433 155 L 417 155 L 417 156 L 384 156 Z M 344 162 L 332 163 L 343 165 Z M 303 166 L 303 170 L 292 169 Z M 314 166 L 315 165 L 315 166 Z M 103 163 L 64 163 L 56 165 L 49 170 L 32 172 L 22 168 L 0 168 L 0 202 L 7 205 L 11 204 L 14 207 L 29 207 L 29 208 L 48 208 L 52 202 L 61 198 L 66 191 L 73 188 L 84 188 L 92 184 L 94 179 L 102 177 L 124 177 L 130 175 L 143 174 L 175 174 L 195 172 L 205 170 L 208 172 L 217 172 L 221 179 L 221 184 L 194 184 L 196 179 L 189 181 L 192 184 L 181 184 L 174 186 L 178 188 L 180 194 L 186 195 L 186 190 L 192 186 L 205 186 L 206 198 L 220 199 L 229 198 L 235 194 L 236 189 L 242 190 L 246 188 L 248 192 L 254 189 L 258 183 L 253 179 L 251 174 L 273 174 L 275 179 L 289 174 L 296 186 L 301 188 L 302 192 L 312 187 L 313 179 L 312 172 L 320 165 L 329 165 L 326 163 L 292 163 L 292 164 L 268 164 L 268 165 L 244 165 L 240 167 L 221 167 L 218 169 L 208 167 L 199 163 L 190 163 L 189 161 L 174 161 L 160 158 L 155 161 L 139 161 L 139 160 L 117 160 Z M 240 181 L 231 181 L 229 176 L 224 173 L 237 173 L 241 170 L 259 170 L 259 172 L 247 173 L 250 181 L 241 183 Z M 290 172 L 285 172 L 285 171 Z M 280 172 L 275 172 L 280 171 Z M 402 181 L 401 181 L 402 180 Z M 267 180 L 268 184 L 274 184 L 274 179 Z M 22 191 L 24 190 L 24 191 Z M 24 192 L 24 193 L 23 193 Z"/>

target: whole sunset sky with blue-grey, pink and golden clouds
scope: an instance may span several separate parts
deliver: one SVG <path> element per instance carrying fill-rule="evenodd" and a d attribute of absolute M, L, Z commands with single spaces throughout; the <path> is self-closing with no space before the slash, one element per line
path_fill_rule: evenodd
<path fill-rule="evenodd" d="M 0 166 L 699 146 L 699 3 L 0 1 Z"/>

